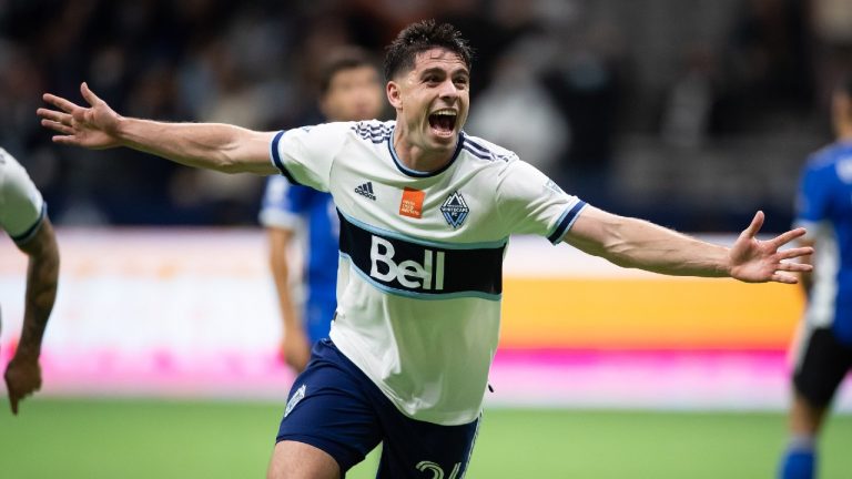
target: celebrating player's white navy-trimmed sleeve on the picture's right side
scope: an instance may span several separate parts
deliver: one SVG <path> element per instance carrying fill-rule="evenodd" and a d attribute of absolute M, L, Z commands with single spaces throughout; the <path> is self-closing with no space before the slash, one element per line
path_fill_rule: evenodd
<path fill-rule="evenodd" d="M 509 162 L 497 190 L 498 211 L 514 234 L 535 234 L 552 244 L 562 240 L 586 203 L 562 191 L 532 165 Z"/>

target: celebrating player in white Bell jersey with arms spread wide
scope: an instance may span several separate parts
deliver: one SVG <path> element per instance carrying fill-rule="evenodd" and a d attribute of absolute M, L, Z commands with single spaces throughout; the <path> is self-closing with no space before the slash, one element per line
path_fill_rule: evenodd
<path fill-rule="evenodd" d="M 730 248 L 576 196 L 518 156 L 462 131 L 470 50 L 449 24 L 407 27 L 388 47 L 389 122 L 282 132 L 124 118 L 83 83 L 89 106 L 51 94 L 53 141 L 129 146 L 195 167 L 281 173 L 334 197 L 337 310 L 291 390 L 270 478 L 339 478 L 379 441 L 379 478 L 464 476 L 497 347 L 509 235 L 538 234 L 625 267 L 795 283 L 809 265 L 761 242 L 758 213 Z M 523 121 L 523 119 L 506 119 Z"/>

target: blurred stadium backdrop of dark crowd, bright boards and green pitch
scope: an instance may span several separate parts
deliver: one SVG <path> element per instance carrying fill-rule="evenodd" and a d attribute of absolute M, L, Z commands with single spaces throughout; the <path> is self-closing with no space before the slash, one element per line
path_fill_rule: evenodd
<path fill-rule="evenodd" d="M 314 123 L 324 52 L 381 54 L 424 17 L 477 49 L 466 130 L 592 204 L 720 242 L 757 208 L 765 231 L 789 225 L 852 54 L 849 0 L 0 2 L 0 145 L 43 192 L 63 254 L 44 391 L 0 412 L 8 477 L 261 476 L 291 380 L 262 180 L 55 147 L 41 93 L 79 99 L 85 80 L 128 115 Z M 26 264 L 8 238 L 0 258 L 3 364 Z M 470 477 L 771 475 L 797 288 L 625 272 L 532 238 L 506 269 Z M 852 470 L 849 389 L 823 477 Z"/>

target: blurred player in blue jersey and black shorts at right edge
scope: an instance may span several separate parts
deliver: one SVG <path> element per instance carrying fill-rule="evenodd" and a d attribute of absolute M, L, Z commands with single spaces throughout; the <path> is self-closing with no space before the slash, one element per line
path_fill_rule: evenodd
<path fill-rule="evenodd" d="M 852 79 L 834 91 L 832 124 L 836 141 L 808 160 L 797 198 L 797 224 L 809 231 L 801 242 L 816 254 L 813 274 L 802 274 L 808 307 L 781 479 L 816 477 L 816 437 L 852 367 Z"/>

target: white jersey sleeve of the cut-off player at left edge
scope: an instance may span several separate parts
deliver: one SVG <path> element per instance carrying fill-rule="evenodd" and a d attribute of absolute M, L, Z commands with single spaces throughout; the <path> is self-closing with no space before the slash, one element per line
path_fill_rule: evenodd
<path fill-rule="evenodd" d="M 23 166 L 0 149 L 0 228 L 18 243 L 31 238 L 44 217 L 44 201 Z"/>

